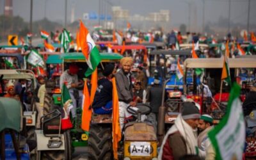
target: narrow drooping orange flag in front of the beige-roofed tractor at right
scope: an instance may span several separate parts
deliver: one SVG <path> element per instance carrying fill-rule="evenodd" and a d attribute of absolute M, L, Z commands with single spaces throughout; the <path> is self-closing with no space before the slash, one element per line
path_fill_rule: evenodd
<path fill-rule="evenodd" d="M 229 58 L 229 49 L 228 49 L 228 41 L 227 41 L 226 52 L 225 52 L 225 56 L 224 56 L 223 68 L 222 68 L 222 73 L 221 73 L 221 80 L 225 80 L 225 81 L 227 81 L 228 84 L 231 84 L 230 71 L 229 71 L 229 66 L 228 66 L 228 58 Z"/>

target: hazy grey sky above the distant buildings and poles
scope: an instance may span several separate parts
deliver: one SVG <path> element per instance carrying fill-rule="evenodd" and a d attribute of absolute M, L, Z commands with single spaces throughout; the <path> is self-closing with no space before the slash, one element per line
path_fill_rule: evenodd
<path fill-rule="evenodd" d="M 100 0 L 67 0 L 68 1 L 68 22 L 72 3 L 74 4 L 75 19 L 81 19 L 85 12 L 99 12 Z M 203 0 L 101 0 L 109 1 L 114 6 L 122 6 L 127 9 L 130 15 L 147 15 L 150 12 L 159 10 L 170 10 L 170 23 L 178 25 L 188 24 L 188 3 L 191 2 L 191 22 L 196 20 L 198 26 L 202 26 Z M 46 2 L 46 8 L 45 8 Z M 4 0 L 0 3 L 0 13 L 3 14 Z M 110 8 L 110 5 L 106 3 Z M 20 15 L 26 21 L 29 20 L 30 0 L 13 0 L 13 14 Z M 33 0 L 33 20 L 39 20 L 45 16 L 49 20 L 64 21 L 65 0 Z M 250 24 L 256 24 L 256 0 L 251 0 Z M 46 9 L 46 10 L 45 10 Z M 46 12 L 45 12 L 46 11 Z M 219 17 L 228 17 L 228 0 L 205 0 L 205 24 L 216 22 Z M 231 0 L 231 20 L 233 22 L 247 23 L 248 0 Z"/>

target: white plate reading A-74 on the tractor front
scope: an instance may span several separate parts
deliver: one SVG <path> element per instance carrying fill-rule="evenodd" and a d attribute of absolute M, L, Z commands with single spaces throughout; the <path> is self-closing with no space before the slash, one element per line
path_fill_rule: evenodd
<path fill-rule="evenodd" d="M 150 156 L 152 148 L 148 142 L 134 141 L 130 145 L 131 156 Z"/>

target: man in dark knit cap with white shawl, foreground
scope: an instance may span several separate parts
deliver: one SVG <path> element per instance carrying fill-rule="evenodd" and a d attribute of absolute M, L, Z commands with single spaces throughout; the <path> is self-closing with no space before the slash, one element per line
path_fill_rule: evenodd
<path fill-rule="evenodd" d="M 158 159 L 180 159 L 185 155 L 198 155 L 197 125 L 200 118 L 193 102 L 184 102 L 172 127 L 164 136 Z"/>

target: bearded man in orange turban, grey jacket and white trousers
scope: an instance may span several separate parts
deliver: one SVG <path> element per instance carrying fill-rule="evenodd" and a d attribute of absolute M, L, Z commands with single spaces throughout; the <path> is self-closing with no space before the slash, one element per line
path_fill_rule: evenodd
<path fill-rule="evenodd" d="M 133 59 L 131 57 L 122 58 L 120 61 L 122 68 L 115 75 L 119 101 L 119 121 L 121 130 L 124 127 L 124 118 L 131 116 L 131 114 L 127 112 L 127 107 L 136 106 L 136 102 L 132 101 L 132 63 Z"/>

